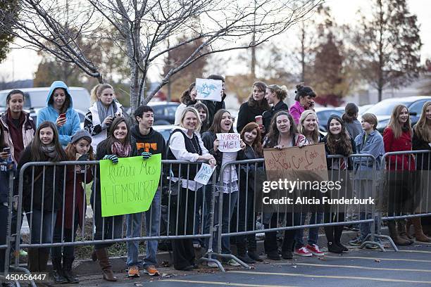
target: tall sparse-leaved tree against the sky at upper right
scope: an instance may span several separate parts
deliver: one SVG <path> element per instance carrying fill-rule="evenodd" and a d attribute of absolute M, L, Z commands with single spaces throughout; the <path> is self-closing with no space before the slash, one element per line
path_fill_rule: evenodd
<path fill-rule="evenodd" d="M 378 91 L 400 87 L 420 75 L 420 41 L 416 15 L 406 0 L 372 0 L 371 15 L 363 15 L 354 45 L 362 76 Z"/>

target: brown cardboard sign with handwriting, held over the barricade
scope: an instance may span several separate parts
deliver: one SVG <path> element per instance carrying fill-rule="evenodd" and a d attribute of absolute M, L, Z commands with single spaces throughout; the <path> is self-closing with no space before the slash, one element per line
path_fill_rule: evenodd
<path fill-rule="evenodd" d="M 268 180 L 299 179 L 327 181 L 325 144 L 313 144 L 302 148 L 263 150 Z"/>

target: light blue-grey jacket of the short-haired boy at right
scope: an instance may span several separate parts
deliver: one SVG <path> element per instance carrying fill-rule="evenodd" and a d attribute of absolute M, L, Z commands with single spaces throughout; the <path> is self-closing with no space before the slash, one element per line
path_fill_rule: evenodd
<path fill-rule="evenodd" d="M 377 130 L 371 132 L 363 142 L 366 132 L 363 131 L 355 138 L 356 153 L 373 155 L 375 162 L 375 170 L 380 170 L 380 161 L 385 154 L 383 137 Z M 354 157 L 354 172 L 356 179 L 373 179 L 373 160 L 369 157 L 360 158 Z"/>

